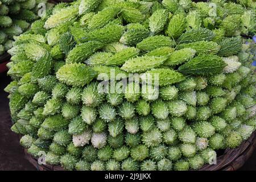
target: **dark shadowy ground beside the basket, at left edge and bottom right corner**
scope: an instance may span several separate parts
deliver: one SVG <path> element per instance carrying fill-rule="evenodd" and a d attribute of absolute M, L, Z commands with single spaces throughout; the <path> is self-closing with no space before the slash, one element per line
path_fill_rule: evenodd
<path fill-rule="evenodd" d="M 6 73 L 0 73 L 0 170 L 36 170 L 24 159 L 19 135 L 10 130 L 9 99 L 8 94 L 3 91 L 9 82 L 10 78 Z M 256 171 L 256 151 L 240 170 Z"/>

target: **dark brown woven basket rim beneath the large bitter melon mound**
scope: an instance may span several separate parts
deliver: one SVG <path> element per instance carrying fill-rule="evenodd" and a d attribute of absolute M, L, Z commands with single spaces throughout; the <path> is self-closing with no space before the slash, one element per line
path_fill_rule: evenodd
<path fill-rule="evenodd" d="M 250 158 L 256 147 L 256 131 L 251 137 L 242 142 L 242 144 L 234 149 L 226 149 L 224 153 L 217 158 L 217 164 L 206 164 L 199 171 L 236 171 L 245 164 Z M 24 149 L 25 158 L 33 164 L 39 171 L 64 171 L 61 166 L 39 165 L 38 159 L 27 153 Z"/>

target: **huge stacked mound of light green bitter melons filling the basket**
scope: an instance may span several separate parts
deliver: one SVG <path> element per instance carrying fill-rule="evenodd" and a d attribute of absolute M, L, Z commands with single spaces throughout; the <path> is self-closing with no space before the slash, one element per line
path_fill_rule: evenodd
<path fill-rule="evenodd" d="M 254 35 L 255 6 L 242 0 L 56 5 L 8 51 L 11 130 L 23 135 L 20 144 L 30 154 L 44 151 L 47 164 L 69 170 L 212 163 L 217 150 L 239 146 L 255 130 L 255 46 L 243 38 Z M 122 93 L 99 89 L 102 80 L 118 85 L 129 73 L 159 79 L 146 90 L 143 74 Z"/>

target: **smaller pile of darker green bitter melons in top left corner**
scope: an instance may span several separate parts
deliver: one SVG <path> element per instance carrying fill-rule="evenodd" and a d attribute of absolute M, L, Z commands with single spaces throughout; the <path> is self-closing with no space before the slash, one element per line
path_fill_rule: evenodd
<path fill-rule="evenodd" d="M 13 37 L 25 32 L 38 19 L 40 3 L 52 6 L 47 0 L 0 1 L 0 56 L 13 47 Z"/>

